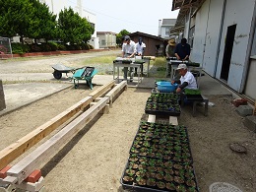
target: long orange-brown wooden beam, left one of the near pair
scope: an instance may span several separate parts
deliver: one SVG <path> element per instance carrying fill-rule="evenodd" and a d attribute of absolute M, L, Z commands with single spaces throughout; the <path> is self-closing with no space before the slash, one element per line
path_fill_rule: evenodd
<path fill-rule="evenodd" d="M 49 135 L 57 127 L 71 119 L 79 111 L 84 110 L 84 108 L 88 106 L 92 100 L 92 96 L 85 97 L 73 106 L 69 107 L 67 110 L 50 119 L 48 122 L 37 127 L 22 139 L 3 149 L 0 152 L 0 170 L 32 148 L 33 145 Z"/>

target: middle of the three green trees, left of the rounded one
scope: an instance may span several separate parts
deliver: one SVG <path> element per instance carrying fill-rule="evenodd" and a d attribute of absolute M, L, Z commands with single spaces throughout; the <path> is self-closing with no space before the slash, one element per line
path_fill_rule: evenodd
<path fill-rule="evenodd" d="M 31 38 L 44 38 L 46 41 L 56 36 L 56 15 L 49 11 L 49 7 L 38 0 L 30 0 L 33 6 L 33 18 L 29 27 Z"/>

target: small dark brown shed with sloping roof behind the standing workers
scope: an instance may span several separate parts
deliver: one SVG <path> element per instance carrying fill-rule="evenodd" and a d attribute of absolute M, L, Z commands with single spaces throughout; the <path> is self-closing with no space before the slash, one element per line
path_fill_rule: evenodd
<path fill-rule="evenodd" d="M 139 37 L 143 38 L 143 42 L 146 44 L 144 55 L 162 56 L 164 54 L 164 39 L 160 36 L 155 36 L 144 32 L 133 32 L 129 35 L 135 42 L 138 42 Z"/>

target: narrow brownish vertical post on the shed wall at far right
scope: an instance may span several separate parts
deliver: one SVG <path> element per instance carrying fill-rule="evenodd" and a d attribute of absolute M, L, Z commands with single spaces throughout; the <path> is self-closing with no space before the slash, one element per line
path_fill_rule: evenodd
<path fill-rule="evenodd" d="M 247 51 L 246 51 L 246 56 L 245 56 L 245 61 L 244 61 L 244 70 L 242 73 L 242 80 L 241 80 L 241 86 L 239 89 L 239 93 L 244 93 L 246 82 L 248 79 L 251 49 L 252 49 L 252 45 L 253 45 L 253 39 L 254 39 L 255 28 L 256 28 L 256 3 L 254 4 L 254 11 L 253 11 L 251 24 L 252 25 L 251 25 L 250 35 L 249 35 L 249 39 L 248 39 Z"/>

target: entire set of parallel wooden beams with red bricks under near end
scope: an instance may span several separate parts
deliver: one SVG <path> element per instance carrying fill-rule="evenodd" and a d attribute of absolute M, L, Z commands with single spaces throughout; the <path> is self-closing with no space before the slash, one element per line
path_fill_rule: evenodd
<path fill-rule="evenodd" d="M 0 152 L 0 191 L 1 189 L 11 191 L 12 188 L 32 192 L 42 191 L 44 183 L 39 169 L 46 157 L 57 154 L 56 149 L 61 149 L 97 114 L 107 113 L 114 99 L 125 90 L 127 90 L 127 82 L 115 84 L 111 81 L 2 150 Z M 66 124 L 72 118 L 73 120 Z M 9 165 L 63 124 L 65 126 L 58 133 L 27 157 L 12 166 Z"/>

